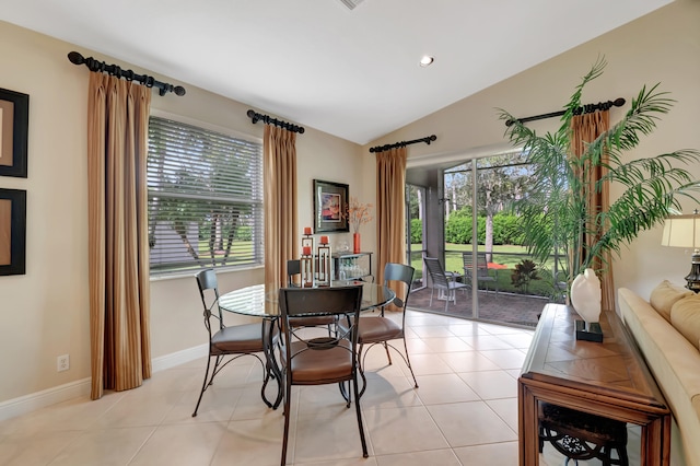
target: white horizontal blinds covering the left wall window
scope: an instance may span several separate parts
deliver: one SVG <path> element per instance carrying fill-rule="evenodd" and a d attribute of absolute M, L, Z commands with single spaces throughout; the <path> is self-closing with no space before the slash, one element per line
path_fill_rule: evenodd
<path fill-rule="evenodd" d="M 151 273 L 262 264 L 262 147 L 149 123 Z"/>

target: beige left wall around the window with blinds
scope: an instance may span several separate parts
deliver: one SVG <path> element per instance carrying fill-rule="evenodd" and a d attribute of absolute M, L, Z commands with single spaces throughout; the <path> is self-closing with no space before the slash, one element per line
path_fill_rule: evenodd
<path fill-rule="evenodd" d="M 71 50 L 152 74 L 141 67 L 0 22 L 3 62 L 0 88 L 30 94 L 28 177 L 0 177 L 0 187 L 27 191 L 26 275 L 0 277 L 0 411 L 3 401 L 7 408 L 21 397 L 90 376 L 86 182 L 90 71 L 68 61 Z M 175 78 L 158 78 L 183 84 L 187 94 L 161 97 L 154 92 L 151 104 L 154 110 L 262 137 L 262 125 L 253 125 L 246 116 L 248 106 Z M 304 135 L 298 136 L 296 149 L 300 225 L 312 224 L 314 178 L 346 183 L 353 195 L 362 194 L 365 179 L 357 144 L 306 128 Z M 346 234 L 331 235 L 331 242 L 340 236 Z M 373 240 L 368 241 L 371 247 Z M 262 268 L 230 272 L 220 277 L 220 288 L 238 288 L 262 279 Z M 154 359 L 206 342 L 200 306 L 194 278 L 151 281 Z M 56 358 L 66 353 L 70 354 L 70 370 L 59 373 Z"/>

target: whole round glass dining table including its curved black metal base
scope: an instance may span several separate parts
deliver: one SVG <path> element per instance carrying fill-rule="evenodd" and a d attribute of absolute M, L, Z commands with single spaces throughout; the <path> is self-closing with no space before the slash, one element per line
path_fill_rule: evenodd
<path fill-rule="evenodd" d="M 330 288 L 362 286 L 362 311 L 371 311 L 389 304 L 396 298 L 396 293 L 384 284 L 369 283 L 359 280 L 334 280 Z M 219 298 L 219 306 L 221 310 L 242 314 L 253 317 L 261 317 L 264 319 L 262 331 L 275 328 L 269 325 L 269 321 L 276 323 L 280 317 L 280 308 L 278 304 L 279 288 L 266 284 L 254 284 L 241 288 L 222 294 Z M 267 324 L 267 325 L 266 325 Z M 267 361 L 267 374 L 262 384 L 262 400 L 273 409 L 277 409 L 282 401 L 282 373 L 277 358 L 275 358 L 273 333 L 267 331 L 264 335 L 265 358 Z M 275 401 L 269 401 L 265 395 L 265 387 L 273 374 L 278 384 L 278 393 Z"/>

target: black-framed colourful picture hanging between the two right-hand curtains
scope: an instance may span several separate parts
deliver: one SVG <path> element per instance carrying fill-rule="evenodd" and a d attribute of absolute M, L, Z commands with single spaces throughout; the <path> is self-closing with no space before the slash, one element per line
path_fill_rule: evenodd
<path fill-rule="evenodd" d="M 349 232 L 349 187 L 342 183 L 314 179 L 314 232 Z"/>

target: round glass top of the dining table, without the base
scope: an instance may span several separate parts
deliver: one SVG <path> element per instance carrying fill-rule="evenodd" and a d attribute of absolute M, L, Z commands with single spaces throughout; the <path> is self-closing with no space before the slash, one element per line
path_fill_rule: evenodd
<path fill-rule="evenodd" d="M 362 286 L 362 311 L 381 307 L 396 298 L 396 293 L 384 284 L 358 280 L 334 280 L 330 287 L 350 287 L 353 284 Z M 222 294 L 219 298 L 219 306 L 223 311 L 236 314 L 256 317 L 278 317 L 280 315 L 278 295 L 279 288 L 254 284 Z"/>

